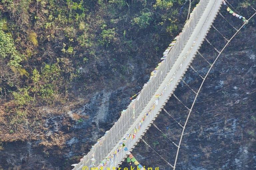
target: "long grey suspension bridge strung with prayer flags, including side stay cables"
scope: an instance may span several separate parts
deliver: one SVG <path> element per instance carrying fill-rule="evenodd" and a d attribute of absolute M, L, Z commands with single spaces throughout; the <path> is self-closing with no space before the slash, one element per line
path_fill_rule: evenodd
<path fill-rule="evenodd" d="M 130 151 L 132 151 L 132 149 L 142 139 L 142 136 L 146 133 L 151 124 L 160 130 L 153 122 L 162 109 L 169 114 L 164 109 L 164 106 L 171 96 L 174 96 L 178 101 L 180 101 L 179 98 L 173 94 L 173 92 L 179 82 L 182 80 L 182 77 L 186 73 L 187 69 L 191 67 L 202 78 L 203 81 L 200 88 L 196 92 L 190 88 L 190 86 L 184 80 L 182 80 L 183 83 L 196 94 L 196 96 L 191 108 L 184 105 L 189 111 L 185 124 L 181 125 L 176 121 L 177 124 L 183 128 L 183 130 L 179 143 L 176 144 L 172 142 L 177 147 L 175 162 L 170 163 L 161 157 L 173 169 L 176 168 L 183 133 L 198 93 L 207 75 L 228 43 L 242 29 L 242 27 L 254 15 L 256 15 L 256 13 L 254 13 L 254 15 L 252 15 L 248 20 L 244 19 L 243 26 L 240 29 L 235 29 L 237 32 L 231 39 L 228 40 L 222 35 L 227 43 L 221 51 L 218 51 L 213 47 L 217 51 L 218 56 L 212 64 L 199 53 L 199 55 L 201 55 L 210 65 L 206 76 L 203 77 L 192 66 L 190 66 L 190 64 L 192 63 L 194 56 L 197 54 L 204 40 L 212 45 L 209 40 L 205 39 L 205 37 L 212 27 L 212 23 L 223 3 L 225 3 L 224 0 L 201 0 L 199 2 L 196 8 L 194 8 L 193 12 L 190 14 L 190 19 L 187 20 L 180 35 L 175 38 L 175 41 L 173 41 L 168 49 L 164 52 L 164 57 L 161 58 L 162 61 L 151 73 L 149 81 L 144 84 L 141 92 L 138 93 L 137 98 L 132 100 L 126 110 L 122 111 L 121 117 L 114 124 L 114 126 L 97 141 L 90 152 L 84 156 L 84 158 L 78 164 L 75 165 L 73 170 L 89 170 L 91 167 L 98 167 L 98 169 L 107 170 L 113 169 L 113 167 L 119 167 L 121 162 L 124 161 L 125 158 L 130 154 Z M 255 9 L 254 11 L 256 12 Z M 220 15 L 222 16 L 222 14 Z M 242 16 L 238 15 L 238 17 Z M 213 28 L 218 31 L 214 26 Z M 142 141 L 148 145 L 145 140 L 142 139 Z"/>

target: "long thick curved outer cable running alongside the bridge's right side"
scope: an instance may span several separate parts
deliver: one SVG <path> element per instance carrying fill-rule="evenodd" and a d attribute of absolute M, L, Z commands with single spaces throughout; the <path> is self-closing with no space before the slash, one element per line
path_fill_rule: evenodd
<path fill-rule="evenodd" d="M 249 21 L 252 17 L 254 17 L 255 15 L 256 15 L 256 13 L 254 13 L 254 14 L 248 19 L 248 21 Z M 196 97 L 195 97 L 195 99 L 194 99 L 194 101 L 193 101 L 193 104 L 192 104 L 192 106 L 191 106 L 191 108 L 190 108 L 190 111 L 189 111 L 189 113 L 188 113 L 187 120 L 186 120 L 186 122 L 185 122 L 185 124 L 184 124 L 184 128 L 183 128 L 182 133 L 181 133 L 181 136 L 180 136 L 179 147 L 178 147 L 178 149 L 177 149 L 177 153 L 176 153 L 176 158 L 175 158 L 173 170 L 175 170 L 175 168 L 176 168 L 177 158 L 178 158 L 179 149 L 180 149 L 182 137 L 183 137 L 183 134 L 184 134 L 184 130 L 185 130 L 186 125 L 187 125 L 187 123 L 188 123 L 188 119 L 189 119 L 189 116 L 190 116 L 190 114 L 191 114 L 191 112 L 192 112 L 192 109 L 193 109 L 193 107 L 194 107 L 194 104 L 195 104 L 195 102 L 196 102 L 197 96 L 198 96 L 198 94 L 199 94 L 199 92 L 200 92 L 200 90 L 201 90 L 201 88 L 202 88 L 202 86 L 203 86 L 203 84 L 204 84 L 204 81 L 205 81 L 206 77 L 208 76 L 209 72 L 211 71 L 213 65 L 215 64 L 215 62 L 216 62 L 217 59 L 219 58 L 220 54 L 221 54 L 221 53 L 223 52 L 223 50 L 227 47 L 227 45 L 229 44 L 229 42 L 237 35 L 237 33 L 245 26 L 245 24 L 247 24 L 247 23 L 244 23 L 244 24 L 237 30 L 237 32 L 229 39 L 229 41 L 225 44 L 225 46 L 222 48 L 222 50 L 220 51 L 220 53 L 218 54 L 218 56 L 215 58 L 214 62 L 212 63 L 211 67 L 209 68 L 208 72 L 206 73 L 206 76 L 204 77 L 203 82 L 201 83 L 201 85 L 200 85 L 200 87 L 199 87 L 199 89 L 198 89 L 198 92 L 197 92 Z"/>

